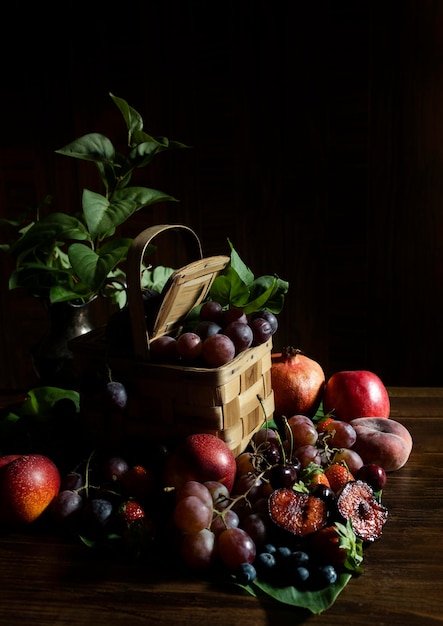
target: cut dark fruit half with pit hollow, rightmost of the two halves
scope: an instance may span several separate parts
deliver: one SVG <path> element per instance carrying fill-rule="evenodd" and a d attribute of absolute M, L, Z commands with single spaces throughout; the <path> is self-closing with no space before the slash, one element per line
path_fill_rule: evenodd
<path fill-rule="evenodd" d="M 337 498 L 337 508 L 345 520 L 351 520 L 355 534 L 363 541 L 372 542 L 381 537 L 388 509 L 377 502 L 368 483 L 362 480 L 347 483 Z"/>

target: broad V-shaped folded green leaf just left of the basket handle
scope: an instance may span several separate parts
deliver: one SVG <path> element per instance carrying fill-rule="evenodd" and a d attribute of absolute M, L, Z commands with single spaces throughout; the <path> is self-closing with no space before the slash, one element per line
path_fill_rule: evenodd
<path fill-rule="evenodd" d="M 98 252 L 81 243 L 69 246 L 68 254 L 74 272 L 92 291 L 98 292 L 108 274 L 126 258 L 132 239 L 113 239 Z"/>

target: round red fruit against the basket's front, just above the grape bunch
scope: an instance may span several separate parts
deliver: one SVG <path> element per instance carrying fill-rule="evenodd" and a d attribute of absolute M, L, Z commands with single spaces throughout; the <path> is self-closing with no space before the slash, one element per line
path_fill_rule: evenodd
<path fill-rule="evenodd" d="M 178 489 L 188 480 L 215 480 L 231 492 L 236 471 L 235 456 L 222 439 L 208 433 L 188 435 L 166 461 L 164 484 Z"/>

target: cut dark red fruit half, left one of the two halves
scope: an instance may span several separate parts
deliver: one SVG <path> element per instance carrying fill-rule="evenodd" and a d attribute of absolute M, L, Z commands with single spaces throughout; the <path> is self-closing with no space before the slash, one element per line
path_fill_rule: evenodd
<path fill-rule="evenodd" d="M 328 507 L 320 498 L 282 488 L 269 496 L 269 515 L 280 528 L 305 537 L 326 526 Z"/>

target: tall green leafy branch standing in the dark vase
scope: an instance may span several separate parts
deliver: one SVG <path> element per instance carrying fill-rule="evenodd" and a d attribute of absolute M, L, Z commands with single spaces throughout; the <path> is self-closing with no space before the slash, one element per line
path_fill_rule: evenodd
<path fill-rule="evenodd" d="M 42 216 L 42 209 L 52 204 L 48 196 L 31 221 L 2 220 L 15 229 L 14 240 L 0 245 L 16 262 L 10 289 L 25 288 L 51 303 L 88 302 L 106 293 L 124 306 L 126 280 L 121 264 L 132 239 L 116 237 L 116 229 L 141 208 L 176 201 L 157 189 L 130 186 L 132 175 L 150 165 L 158 154 L 187 146 L 148 135 L 141 115 L 122 98 L 110 96 L 128 130 L 127 153 L 118 152 L 100 133 L 88 133 L 55 151 L 94 163 L 103 190 L 84 189 L 76 215 L 53 211 Z"/>

